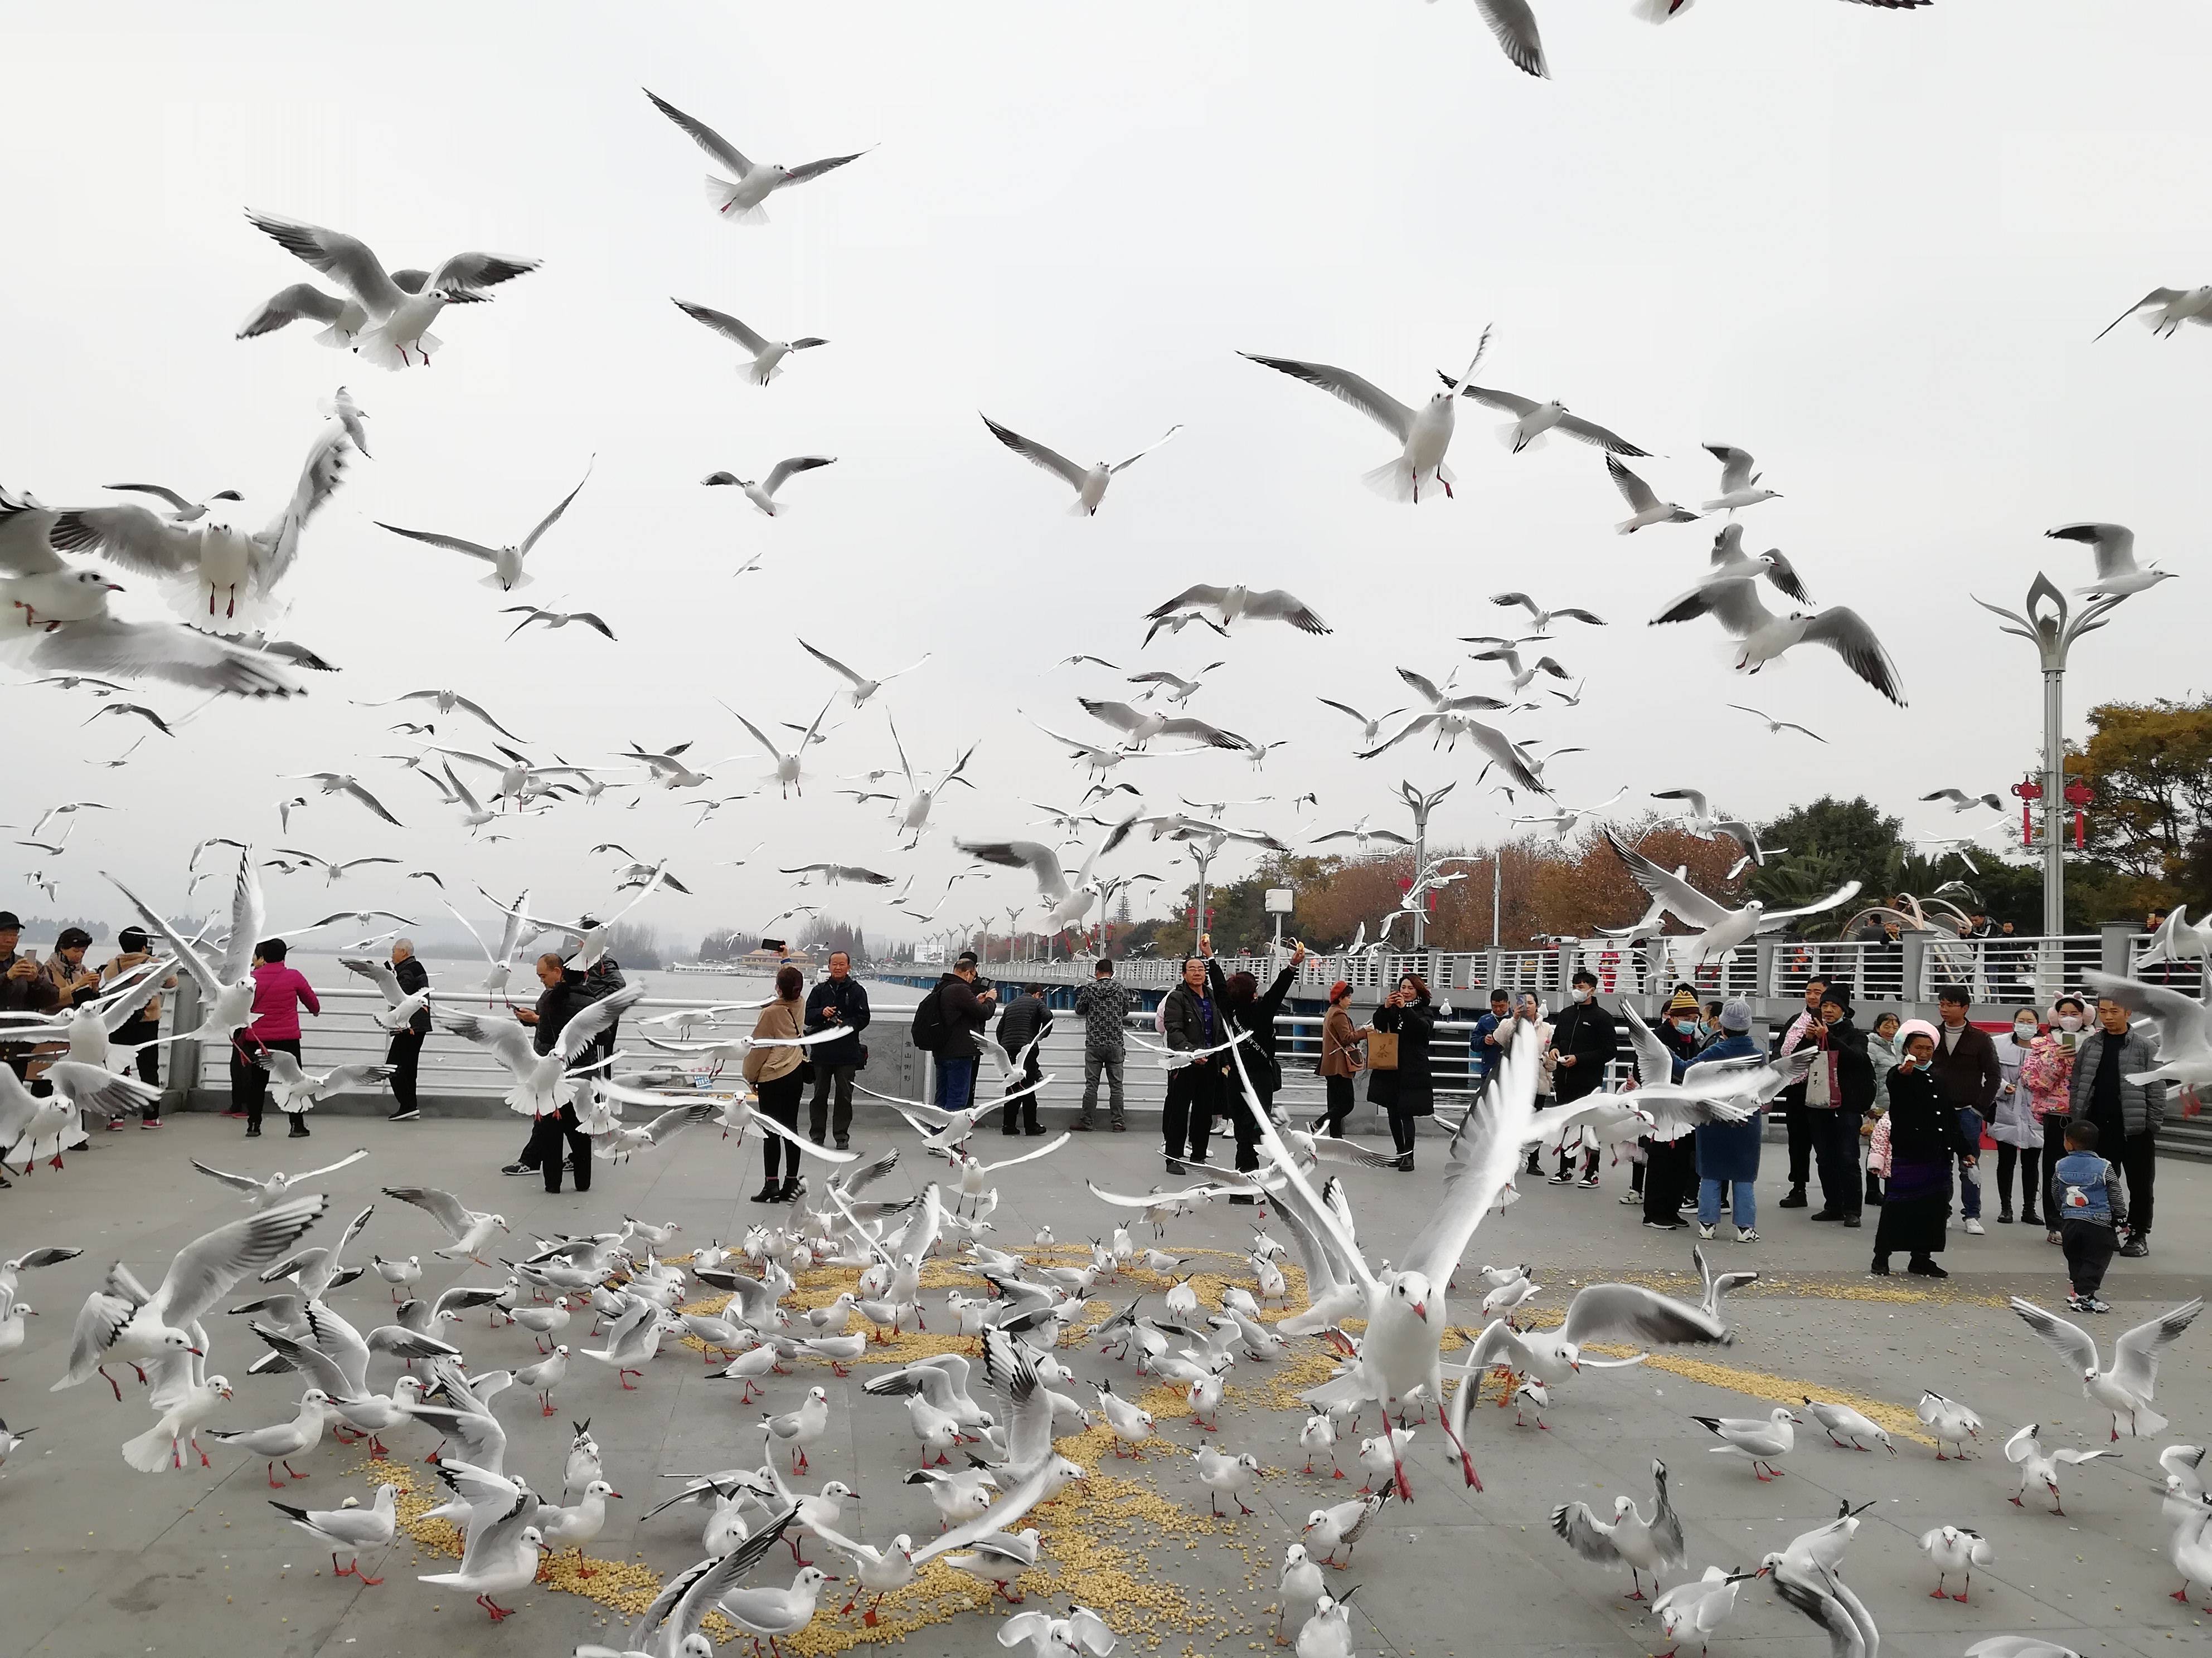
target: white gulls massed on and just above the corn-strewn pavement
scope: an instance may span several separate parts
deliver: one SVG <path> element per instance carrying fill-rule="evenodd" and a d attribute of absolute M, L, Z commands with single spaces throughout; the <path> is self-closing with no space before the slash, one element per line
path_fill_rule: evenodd
<path fill-rule="evenodd" d="M 697 1008 L 690 1024 L 710 1024 L 726 1010 Z M 456 1035 L 500 1048 L 513 1046 L 500 1030 L 518 1032 L 513 1024 L 495 1026 L 442 1008 L 438 1017 Z M 1670 1085 L 1661 1081 L 1670 1074 L 1666 1050 L 1641 1021 L 1639 1061 L 1648 1061 L 1655 1077 L 1542 1116 L 1535 1110 L 1535 1037 L 1517 1035 L 1489 1092 L 1453 1125 L 1436 1209 L 1418 1220 L 1391 1265 L 1374 1260 L 1347 1185 L 1391 1158 L 1256 1112 L 1256 1169 L 1203 1165 L 1192 1172 L 1192 1185 L 1172 1192 L 1117 1192 L 1093 1178 L 1093 1242 L 1062 1249 L 1046 1229 L 1035 1247 L 1006 1247 L 989 1225 L 1000 1209 L 1000 1187 L 1020 1183 L 1026 1165 L 1060 1152 L 1071 1136 L 982 1163 L 969 1141 L 975 1123 L 1000 1110 L 1000 1099 L 969 1112 L 898 1099 L 891 1105 L 914 1132 L 911 1143 L 894 1130 L 896 1143 L 883 1150 L 834 1152 L 750 1110 L 743 1090 L 701 1099 L 690 1088 L 661 1092 L 644 1079 L 611 1081 L 604 1068 L 575 1066 L 608 1024 L 611 1017 L 593 1019 L 591 1010 L 580 1015 L 542 1061 L 524 1054 L 529 1043 L 522 1041 L 511 1059 L 518 1090 L 582 1101 L 586 1119 L 602 1119 L 599 1132 L 606 1132 L 604 1119 L 619 1119 L 626 1105 L 675 1103 L 661 1121 L 679 1114 L 690 1119 L 684 1127 L 721 1121 L 737 1141 L 734 1158 L 745 1156 L 754 1130 L 781 1134 L 810 1167 L 787 1220 L 754 1225 L 737 1245 L 712 1240 L 670 1260 L 684 1249 L 672 1222 L 624 1216 L 593 1231 L 518 1238 L 504 1216 L 456 1192 L 387 1185 L 383 1196 L 420 1211 L 447 1242 L 389 1258 L 372 1251 L 361 1262 L 358 1256 L 347 1260 L 356 1240 L 389 1229 L 389 1218 L 380 1220 L 380 1205 L 369 1203 L 332 1242 L 316 1245 L 312 1236 L 332 1218 L 332 1198 L 316 1187 L 372 1152 L 265 1176 L 195 1163 L 239 1194 L 246 1211 L 188 1242 L 153 1289 L 126 1267 L 111 1267 L 75 1318 L 51 1388 L 102 1379 L 115 1404 L 126 1406 L 133 1377 L 144 1377 L 144 1408 L 153 1421 L 119 1446 L 133 1470 L 161 1475 L 188 1459 L 212 1468 L 223 1455 L 248 1466 L 259 1461 L 263 1483 L 276 1492 L 270 1523 L 312 1536 L 330 1550 L 332 1576 L 358 1578 L 363 1587 L 383 1585 L 389 1552 L 409 1541 L 400 1523 L 400 1486 L 383 1477 L 367 1501 L 310 1508 L 290 1499 L 292 1486 L 314 1475 L 299 1461 L 325 1435 L 354 1439 L 380 1459 L 372 1463 L 376 1479 L 403 1466 L 387 1441 L 429 1441 L 429 1477 L 442 1499 L 429 1517 L 456 1525 L 460 1559 L 451 1570 L 418 1578 L 431 1589 L 469 1594 L 491 1623 L 500 1623 L 515 1614 L 513 1596 L 551 1570 L 555 1554 L 573 1552 L 577 1578 L 599 1570 L 588 1547 L 606 1530 L 608 1503 L 622 1501 L 622 1486 L 641 1477 L 628 1466 L 635 1452 L 608 1448 L 626 1444 L 619 1430 L 602 1444 L 588 1421 L 575 1424 L 573 1435 L 551 1424 L 562 1415 L 560 1395 L 573 1386 L 573 1366 L 597 1364 L 615 1373 L 622 1391 L 650 1391 L 664 1386 L 655 1377 L 668 1357 L 692 1346 L 710 1382 L 734 1384 L 732 1404 L 763 1402 L 759 1415 L 748 1417 L 750 1430 L 732 1428 L 739 1441 L 752 1441 L 757 1461 L 743 1452 L 734 1461 L 728 1452 L 706 1452 L 697 1470 L 672 1477 L 666 1501 L 644 1514 L 646 1523 L 668 1517 L 661 1523 L 699 1528 L 701 1559 L 661 1585 L 624 1636 L 626 1645 L 577 1647 L 617 1658 L 701 1658 L 712 1651 L 703 1634 L 710 1612 L 754 1640 L 781 1643 L 834 1609 L 832 1583 L 843 1585 L 843 1612 L 865 1607 L 863 1623 L 874 1625 L 885 1601 L 938 1561 L 984 1589 L 978 1607 L 998 1598 L 1020 1603 L 1024 1589 L 1048 1583 L 1040 1576 L 1040 1523 L 1057 1521 L 1046 1505 L 1088 1479 L 1088 1468 L 1068 1455 L 1073 1437 L 1091 1446 L 1088 1455 L 1130 1466 L 1155 1463 L 1164 1448 L 1188 1450 L 1194 1475 L 1188 1501 L 1203 1503 L 1217 1519 L 1252 1514 L 1263 1481 L 1314 1479 L 1325 1490 L 1327 1481 L 1349 1477 L 1345 1463 L 1352 1461 L 1365 1483 L 1347 1499 L 1310 1510 L 1285 1547 L 1272 1607 L 1276 1640 L 1296 1647 L 1301 1658 L 1352 1658 L 1358 1643 L 1349 1607 L 1358 1585 L 1332 1592 L 1327 1572 L 1358 1570 L 1371 1556 L 1385 1508 L 1418 1503 L 1429 1481 L 1482 1492 L 1478 1444 L 1484 1455 L 1495 1455 L 1498 1446 L 1489 1444 L 1495 1435 L 1482 1430 L 1473 1406 L 1493 1377 L 1498 1406 L 1535 1408 L 1533 1424 L 1526 1415 L 1517 1421 L 1544 1428 L 1546 1408 L 1575 1408 L 1586 1388 L 1606 1386 L 1599 1377 L 1628 1373 L 1655 1351 L 1725 1349 L 1747 1335 L 1730 1318 L 1728 1298 L 1754 1284 L 1759 1273 L 1717 1271 L 1701 1249 L 1694 1251 L 1697 1300 L 1628 1282 L 1586 1282 L 1551 1329 L 1531 1324 L 1546 1293 L 1531 1267 L 1469 1265 L 1478 1231 L 1515 1200 L 1513 1178 L 1524 1154 L 1579 1132 L 1548 1119 L 1566 1114 L 1595 1125 L 1628 1110 L 1644 1130 L 1668 1112 L 1677 1114 L 1668 1130 L 1741 1121 L 1785 1081 L 1774 1066 L 1752 1059 L 1712 1066 L 1705 1068 L 1710 1077 Z M 1239 1035 L 1221 1052 L 1230 1054 L 1245 1099 L 1256 1099 L 1243 1072 L 1243 1041 Z M 1646 1046 L 1655 1052 L 1644 1054 Z M 58 1070 L 75 1063 L 62 1061 Z M 1018 1096 L 1018 1077 L 1020 1066 L 1006 1068 L 1004 1099 Z M 135 1083 L 113 1081 L 124 1085 L 122 1096 L 102 1101 L 86 1092 L 73 1108 L 95 1116 L 128 1110 Z M 312 1103 L 303 1099 L 301 1108 Z M 635 1150 L 650 1152 L 653 1143 Z M 922 1169 L 920 1189 L 900 1194 L 894 1174 L 909 1156 Z M 942 1172 L 929 1169 L 931 1158 L 942 1158 Z M 1186 1256 L 1144 1247 L 1133 1236 L 1139 1222 L 1164 1236 L 1192 1207 L 1239 1194 L 1259 1200 L 1259 1229 L 1241 1269 L 1214 1273 L 1217 1289 L 1208 1298 L 1199 1295 Z M 1267 1234 L 1274 1225 L 1290 1236 L 1287 1247 Z M 51 1271 L 80 1253 L 75 1245 L 40 1245 L 0 1262 L 0 1331 L 13 1331 L 13 1337 L 0 1335 L 0 1351 L 22 1344 L 22 1318 L 31 1311 L 18 1293 L 24 1273 Z M 1285 1256 L 1296 1256 L 1303 1269 L 1303 1298 L 1281 1269 Z M 427 1282 L 431 1262 L 458 1273 L 460 1282 L 434 1289 Z M 925 1289 L 925 1265 L 931 1289 Z M 838 1293 L 830 1300 L 801 1293 L 801 1273 L 823 1269 L 843 1284 Z M 352 1284 L 363 1289 L 347 1298 Z M 248 1300 L 230 1304 L 241 1291 Z M 1453 1309 L 1471 1304 L 1480 1311 L 1460 1315 L 1464 1346 L 1447 1355 L 1458 1329 Z M 228 1324 L 226 1311 L 243 1326 Z M 487 1313 L 491 1329 L 471 1335 L 476 1311 Z M 2159 1360 L 2188 1335 L 2203 1300 L 2126 1331 L 2110 1362 L 2086 1331 L 2035 1302 L 2015 1298 L 2013 1311 L 2110 1417 L 2112 1446 L 2163 1435 L 2168 1421 L 2154 1408 Z M 529 1349 L 491 1351 L 487 1344 L 502 1326 L 520 1326 Z M 812 1455 L 847 1437 L 841 1424 L 847 1406 L 812 1379 L 821 1373 L 816 1366 L 845 1375 L 909 1326 L 945 1335 L 896 1366 L 878 1362 L 849 1408 L 878 1413 L 887 1424 L 902 1419 L 916 1466 L 891 1486 L 869 1481 L 865 1494 L 836 1477 L 818 1490 L 801 1483 L 810 1479 Z M 239 1382 L 212 1368 L 215 1351 L 230 1344 L 219 1340 L 228 1331 L 243 1331 L 259 1349 Z M 1248 1413 L 1267 1408 L 1267 1393 L 1241 1388 L 1243 1404 L 1232 1406 L 1228 1379 L 1241 1373 L 1239 1366 L 1261 1366 L 1265 1375 L 1265 1366 L 1303 1351 L 1296 1344 L 1305 1342 L 1334 1355 L 1334 1375 L 1298 1388 L 1298 1404 L 1310 1413 L 1298 1433 L 1303 1470 L 1270 1475 L 1263 1457 L 1248 1448 Z M 785 1377 L 792 1379 L 785 1384 Z M 288 1386 L 299 1393 L 283 1402 Z M 1181 1395 L 1188 1413 L 1157 1415 L 1139 1404 L 1146 1388 Z M 529 1404 L 518 1413 L 513 1402 Z M 234 1426 L 241 1417 L 248 1426 Z M 1376 1433 L 1360 1437 L 1363 1421 L 1374 1421 Z M 1787 1477 L 1785 1463 L 1803 1455 L 1796 1430 L 1807 1424 L 1825 1437 L 1827 1455 L 1900 1455 L 1898 1435 L 1849 1399 L 1805 1397 L 1801 1406 L 1776 1406 L 1759 1417 L 1690 1415 L 1681 1421 L 1683 1448 L 1694 1444 L 1690 1433 L 1701 1430 L 1714 1441 L 1714 1455 L 1743 1466 L 1756 1481 Z M 1933 1452 L 1916 1455 L 1933 1461 L 1971 1461 L 1969 1448 L 1986 1433 L 1971 1406 L 1938 1393 L 1920 1397 L 1918 1421 Z M 1433 1450 L 1431 1424 L 1440 1439 Z M 1170 1428 L 1188 1430 L 1188 1444 Z M 0 1461 L 31 1430 L 15 1426 L 0 1441 Z M 1504 1433 L 1511 1439 L 1511 1430 Z M 2042 1486 L 2051 1510 L 2064 1512 L 2062 1472 L 2115 1455 L 2108 1446 L 2046 1448 L 2042 1426 L 2024 1424 L 2004 1441 L 2006 1461 L 2020 1470 L 2011 1501 L 2024 1508 L 2031 1488 Z M 719 1461 L 732 1466 L 710 1466 Z M 2159 1463 L 2161 1523 L 2172 1534 L 2170 1556 L 2185 1578 L 2185 1596 L 2190 1583 L 2212 1570 L 2203 1450 L 2168 1446 Z M 1677 1508 L 1668 1461 L 1650 1459 L 1648 1472 L 1650 1508 L 1630 1492 L 1615 1494 L 1610 1512 L 1568 1499 L 1551 1510 L 1551 1530 L 1582 1561 L 1626 1572 L 1626 1598 L 1646 1605 L 1677 1649 L 1688 1638 L 1705 1647 L 1736 1614 L 1741 1585 L 1763 1581 L 1825 1634 L 1834 1654 L 1878 1656 L 1880 1596 L 1869 1603 L 1845 1578 L 1845 1550 L 1860 1528 L 1863 1505 L 1847 1501 L 1834 1521 L 1763 1556 L 1694 1565 L 1692 1532 Z M 916 1521 L 929 1517 L 938 1521 L 936 1536 L 918 1545 Z M 863 1541 L 863 1532 L 874 1541 Z M 787 1585 L 759 1581 L 779 1545 L 790 1547 L 796 1565 Z M 834 1556 L 836 1570 L 807 1561 L 810 1545 L 816 1556 Z M 1971 1601 L 1973 1574 L 1993 1567 L 2000 1547 L 2002 1539 L 1971 1525 L 1929 1528 L 1918 1536 L 1933 1572 L 1929 1594 Z M 1677 1578 L 1672 1587 L 1666 1587 L 1668 1576 Z M 995 1636 L 1006 1647 L 1031 1645 L 1055 1658 L 1077 1649 L 1102 1658 L 1133 1627 L 1126 1618 L 1126 1609 L 1082 1603 L 1064 1616 L 1024 1609 L 1002 1620 Z M 1982 1643 L 1973 1651 L 2000 1658 L 2026 1649 Z M 2059 1651 L 2064 1647 L 2051 1647 L 2053 1658 Z"/>

